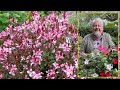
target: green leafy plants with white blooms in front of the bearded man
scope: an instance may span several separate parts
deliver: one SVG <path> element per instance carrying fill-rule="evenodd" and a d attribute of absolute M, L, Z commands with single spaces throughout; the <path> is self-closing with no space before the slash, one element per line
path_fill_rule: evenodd
<path fill-rule="evenodd" d="M 99 53 L 99 54 L 98 54 Z M 88 54 L 86 57 L 80 57 L 79 61 L 79 75 L 80 77 L 98 77 L 100 72 L 110 72 L 110 76 L 117 76 L 118 67 L 114 67 L 114 60 L 117 60 L 117 51 L 111 50 L 109 55 L 106 53 L 93 51 Z M 111 67 L 112 65 L 113 67 Z M 111 70 L 109 69 L 111 68 Z M 94 76 L 96 74 L 98 76 Z"/>

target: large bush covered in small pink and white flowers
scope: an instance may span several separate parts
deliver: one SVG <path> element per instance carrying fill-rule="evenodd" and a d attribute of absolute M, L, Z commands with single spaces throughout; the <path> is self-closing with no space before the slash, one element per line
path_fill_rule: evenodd
<path fill-rule="evenodd" d="M 77 78 L 77 30 L 68 23 L 67 13 L 41 17 L 8 27 L 0 33 L 0 78 Z"/>

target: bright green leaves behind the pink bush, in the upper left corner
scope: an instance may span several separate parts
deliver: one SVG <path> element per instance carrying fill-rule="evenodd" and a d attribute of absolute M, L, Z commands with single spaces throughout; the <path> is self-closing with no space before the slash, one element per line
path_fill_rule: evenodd
<path fill-rule="evenodd" d="M 0 11 L 0 32 L 9 24 L 9 19 L 15 18 L 22 24 L 29 17 L 29 11 Z"/>

